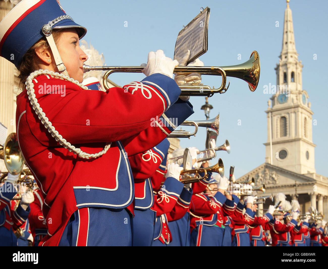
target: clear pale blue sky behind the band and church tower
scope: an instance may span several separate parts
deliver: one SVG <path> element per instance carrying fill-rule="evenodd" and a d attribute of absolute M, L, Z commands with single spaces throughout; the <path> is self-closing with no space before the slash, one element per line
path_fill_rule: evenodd
<path fill-rule="evenodd" d="M 236 65 L 245 62 L 252 51 L 258 51 L 261 61 L 259 85 L 254 93 L 240 79 L 230 78 L 227 93 L 209 98 L 214 109 L 211 118 L 220 113 L 220 131 L 217 145 L 228 139 L 231 154 L 219 152 L 226 167 L 235 166 L 236 177 L 242 176 L 265 161 L 267 121 L 265 110 L 271 97 L 263 93 L 263 86 L 276 84 L 275 66 L 282 47 L 285 0 L 270 1 L 86 1 L 61 0 L 67 14 L 88 32 L 84 39 L 103 52 L 106 65 L 140 65 L 147 61 L 150 51 L 162 49 L 173 57 L 178 32 L 198 13 L 200 7 L 210 7 L 208 51 L 200 57 L 205 66 Z M 295 44 L 302 61 L 303 90 L 312 103 L 313 142 L 316 170 L 328 176 L 327 152 L 327 84 L 326 63 L 328 1 L 291 0 Z M 279 22 L 279 27 L 276 27 Z M 124 27 L 127 22 L 128 27 Z M 238 60 L 238 54 L 241 60 Z M 313 59 L 317 54 L 317 60 Z M 142 74 L 113 74 L 119 85 L 143 79 Z M 218 87 L 220 77 L 203 76 L 206 85 Z M 191 97 L 194 120 L 205 118 L 200 107 L 203 97 Z M 241 125 L 238 125 L 241 120 Z M 204 128 L 205 129 L 205 128 Z M 192 139 L 181 139 L 182 147 L 203 149 L 205 130 L 199 130 Z"/>

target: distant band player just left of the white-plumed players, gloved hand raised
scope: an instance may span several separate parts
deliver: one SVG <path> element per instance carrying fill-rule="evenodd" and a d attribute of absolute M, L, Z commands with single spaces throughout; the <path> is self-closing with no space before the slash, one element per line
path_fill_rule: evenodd
<path fill-rule="evenodd" d="M 256 213 L 257 204 L 253 206 L 253 211 Z M 250 236 L 251 236 L 251 246 L 253 247 L 264 247 L 265 246 L 265 234 L 263 230 L 263 225 L 268 223 L 273 217 L 272 214 L 275 211 L 275 207 L 270 205 L 268 208 L 268 212 L 262 216 L 257 217 L 254 216 L 254 221 L 250 227 Z"/>

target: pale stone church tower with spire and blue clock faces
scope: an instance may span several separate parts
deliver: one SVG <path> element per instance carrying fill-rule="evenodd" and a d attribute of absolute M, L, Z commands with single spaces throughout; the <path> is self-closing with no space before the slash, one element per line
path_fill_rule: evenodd
<path fill-rule="evenodd" d="M 312 141 L 313 112 L 302 90 L 302 67 L 295 46 L 292 10 L 284 16 L 282 50 L 277 64 L 277 93 L 268 101 L 265 162 L 298 174 L 316 173 Z M 275 87 L 271 87 L 274 93 Z"/>

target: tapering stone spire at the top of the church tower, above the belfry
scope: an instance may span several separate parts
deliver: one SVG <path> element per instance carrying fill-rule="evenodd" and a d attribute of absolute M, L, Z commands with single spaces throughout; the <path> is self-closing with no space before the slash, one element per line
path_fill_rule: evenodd
<path fill-rule="evenodd" d="M 287 0 L 287 8 L 285 10 L 284 17 L 284 32 L 282 37 L 282 50 L 280 54 L 280 59 L 289 59 L 289 54 L 295 55 L 297 59 L 297 51 L 295 47 L 295 37 L 294 37 L 294 27 L 293 27 L 293 17 L 292 10 L 289 8 L 289 0 Z M 286 58 L 283 56 L 287 56 Z"/>

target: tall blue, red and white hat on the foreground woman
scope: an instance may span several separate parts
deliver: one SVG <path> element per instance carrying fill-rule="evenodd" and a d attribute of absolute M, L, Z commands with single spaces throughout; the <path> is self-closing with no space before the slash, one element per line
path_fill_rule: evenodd
<path fill-rule="evenodd" d="M 45 25 L 50 26 L 50 34 L 52 29 L 75 28 L 79 39 L 87 32 L 65 13 L 57 0 L 22 0 L 0 22 L 0 56 L 18 68 L 24 54 L 45 36 Z"/>

